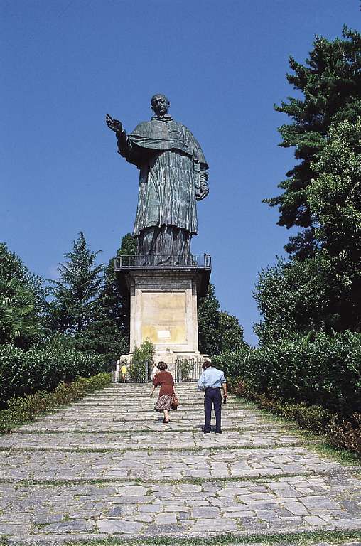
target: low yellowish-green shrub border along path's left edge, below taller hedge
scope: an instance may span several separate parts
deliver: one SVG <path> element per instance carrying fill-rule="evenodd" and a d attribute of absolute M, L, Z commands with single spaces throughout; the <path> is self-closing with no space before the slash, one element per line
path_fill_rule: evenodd
<path fill-rule="evenodd" d="M 66 384 L 61 382 L 53 392 L 38 390 L 33 395 L 14 397 L 9 400 L 6 410 L 0 411 L 0 434 L 10 432 L 33 420 L 39 413 L 48 412 L 55 407 L 68 404 L 87 392 L 94 392 L 111 384 L 110 373 L 99 373 L 92 378 L 79 378 Z"/>

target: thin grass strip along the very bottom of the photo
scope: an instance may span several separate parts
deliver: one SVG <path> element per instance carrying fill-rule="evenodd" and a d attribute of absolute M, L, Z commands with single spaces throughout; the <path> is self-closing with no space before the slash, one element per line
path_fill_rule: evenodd
<path fill-rule="evenodd" d="M 139 539 L 127 539 L 126 537 L 109 537 L 105 539 L 74 540 L 67 541 L 67 546 L 226 546 L 226 545 L 263 545 L 263 546 L 311 546 L 325 542 L 332 545 L 340 545 L 347 541 L 355 542 L 361 540 L 361 531 L 299 531 L 299 532 L 269 532 L 267 534 L 247 534 L 236 536 L 232 533 L 225 533 L 217 537 L 144 537 Z M 352 543 L 351 542 L 351 543 Z M 32 546 L 41 545 L 44 542 L 31 542 Z M 28 542 L 11 540 L 6 537 L 0 539 L 0 546 L 21 546 Z M 56 535 L 53 538 L 52 546 L 57 546 Z"/>

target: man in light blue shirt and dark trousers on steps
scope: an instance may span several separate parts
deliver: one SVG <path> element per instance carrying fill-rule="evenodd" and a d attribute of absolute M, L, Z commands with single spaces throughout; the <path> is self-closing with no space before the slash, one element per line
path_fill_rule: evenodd
<path fill-rule="evenodd" d="M 210 432 L 210 417 L 212 414 L 212 406 L 215 408 L 215 432 L 222 433 L 220 428 L 222 395 L 220 389 L 223 390 L 223 400 L 227 400 L 227 382 L 225 374 L 222 370 L 214 368 L 209 360 L 205 360 L 203 364 L 203 373 L 198 381 L 198 390 L 205 391 L 205 427 L 203 432 Z"/>

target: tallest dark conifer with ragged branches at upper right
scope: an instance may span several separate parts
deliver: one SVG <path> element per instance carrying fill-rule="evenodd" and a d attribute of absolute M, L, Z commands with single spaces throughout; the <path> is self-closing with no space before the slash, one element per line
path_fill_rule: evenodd
<path fill-rule="evenodd" d="M 294 147 L 300 162 L 279 184 L 283 193 L 265 202 L 279 207 L 279 225 L 303 228 L 290 237 L 285 248 L 306 259 L 317 247 L 307 200 L 307 188 L 315 175 L 313 163 L 327 142 L 330 126 L 345 119 L 354 122 L 361 114 L 361 35 L 344 27 L 343 39 L 328 41 L 316 36 L 306 64 L 290 57 L 289 65 L 293 73 L 286 75 L 287 80 L 303 98 L 289 97 L 289 102 L 276 107 L 292 119 L 291 124 L 279 128 L 283 139 L 280 146 Z"/>

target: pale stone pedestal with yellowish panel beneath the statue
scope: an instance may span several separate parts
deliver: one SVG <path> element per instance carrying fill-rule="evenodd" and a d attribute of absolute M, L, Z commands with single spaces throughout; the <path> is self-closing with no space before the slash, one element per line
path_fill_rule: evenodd
<path fill-rule="evenodd" d="M 177 358 L 202 358 L 197 298 L 207 292 L 210 266 L 134 267 L 122 262 L 116 271 L 130 304 L 131 352 L 126 359 L 146 339 L 156 348 L 154 360 L 166 362 L 171 373 Z"/>

